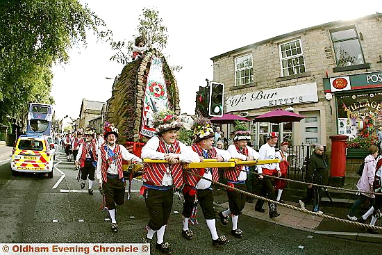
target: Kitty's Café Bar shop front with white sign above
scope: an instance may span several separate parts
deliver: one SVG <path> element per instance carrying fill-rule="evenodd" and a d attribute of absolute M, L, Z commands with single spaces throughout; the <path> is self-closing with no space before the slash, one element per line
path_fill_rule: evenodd
<path fill-rule="evenodd" d="M 279 133 L 281 141 L 290 142 L 290 145 L 317 144 L 320 142 L 321 111 L 315 107 L 305 108 L 307 104 L 318 102 L 317 83 L 286 86 L 270 90 L 256 90 L 245 94 L 226 97 L 226 112 L 247 117 L 251 122 L 249 127 L 252 135 L 252 145 L 260 147 L 266 140 L 269 132 Z M 306 116 L 301 121 L 299 129 L 294 122 L 270 123 L 255 122 L 254 117 L 267 113 L 275 108 L 290 110 Z M 324 110 L 322 110 L 324 111 Z M 233 124 L 227 132 L 233 130 Z"/>

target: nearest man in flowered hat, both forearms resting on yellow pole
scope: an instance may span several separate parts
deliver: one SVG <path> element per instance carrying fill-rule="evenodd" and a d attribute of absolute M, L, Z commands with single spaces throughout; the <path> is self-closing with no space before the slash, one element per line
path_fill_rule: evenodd
<path fill-rule="evenodd" d="M 142 173 L 144 195 L 150 220 L 147 224 L 147 236 L 142 242 L 151 242 L 156 233 L 156 248 L 160 252 L 169 252 L 169 243 L 163 242 L 169 213 L 172 208 L 173 188 L 183 184 L 180 162 L 199 162 L 199 156 L 192 149 L 176 140 L 176 131 L 182 124 L 178 116 L 170 110 L 153 115 L 153 126 L 157 135 L 147 141 L 142 148 L 142 158 L 164 159 L 169 163 L 145 163 Z"/>

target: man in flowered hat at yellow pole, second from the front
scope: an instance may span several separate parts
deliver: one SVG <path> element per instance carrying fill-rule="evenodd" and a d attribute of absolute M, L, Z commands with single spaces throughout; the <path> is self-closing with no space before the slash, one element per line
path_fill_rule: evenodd
<path fill-rule="evenodd" d="M 212 124 L 207 119 L 200 118 L 197 120 L 192 126 L 192 130 L 195 135 L 192 150 L 197 152 L 201 161 L 204 158 L 215 158 L 219 162 L 231 159 L 231 154 L 228 151 L 213 147 L 215 133 L 213 133 Z M 217 168 L 190 169 L 189 171 L 204 176 L 206 179 L 219 180 Z M 197 204 L 200 204 L 213 238 L 213 245 L 225 245 L 228 242 L 226 236 L 219 237 L 216 231 L 212 182 L 206 179 L 201 179 L 194 174 L 184 172 L 185 186 L 183 188 L 183 195 L 185 202 L 183 204 L 182 236 L 188 240 L 192 239 L 194 233 L 188 228 L 188 222 L 192 214 L 196 214 Z"/>

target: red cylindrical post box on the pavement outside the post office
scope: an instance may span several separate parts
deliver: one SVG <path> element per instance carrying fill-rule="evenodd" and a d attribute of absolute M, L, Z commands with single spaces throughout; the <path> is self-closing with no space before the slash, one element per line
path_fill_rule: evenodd
<path fill-rule="evenodd" d="M 347 135 L 331 135 L 331 186 L 344 186 Z"/>

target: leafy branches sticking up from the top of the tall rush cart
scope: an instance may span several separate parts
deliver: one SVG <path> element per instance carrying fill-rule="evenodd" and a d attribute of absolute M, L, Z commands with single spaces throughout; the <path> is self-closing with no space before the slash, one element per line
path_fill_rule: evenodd
<path fill-rule="evenodd" d="M 110 60 L 126 65 L 131 60 L 133 54 L 133 44 L 135 38 L 143 36 L 146 38 L 148 48 L 155 48 L 162 51 L 167 46 L 167 28 L 162 25 L 163 19 L 159 17 L 158 10 L 143 8 L 137 26 L 138 35 L 133 35 L 133 40 L 128 42 L 110 42 L 110 46 L 115 54 Z"/>

